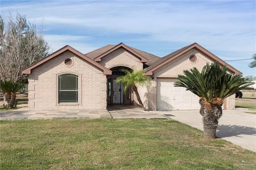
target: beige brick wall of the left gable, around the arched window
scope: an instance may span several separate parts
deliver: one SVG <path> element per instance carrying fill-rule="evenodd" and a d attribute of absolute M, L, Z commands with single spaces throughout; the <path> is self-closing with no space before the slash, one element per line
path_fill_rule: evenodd
<path fill-rule="evenodd" d="M 66 58 L 73 65 L 64 64 Z M 58 104 L 58 75 L 72 73 L 78 75 L 78 104 Z M 106 75 L 71 52 L 38 66 L 29 75 L 28 107 L 30 109 L 106 109 Z"/>

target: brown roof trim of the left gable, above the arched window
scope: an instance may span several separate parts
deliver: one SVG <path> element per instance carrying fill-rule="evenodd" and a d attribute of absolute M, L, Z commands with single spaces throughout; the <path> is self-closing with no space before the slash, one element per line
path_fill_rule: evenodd
<path fill-rule="evenodd" d="M 111 75 L 111 71 L 109 69 L 107 69 L 105 66 L 93 61 L 91 58 L 87 57 L 86 55 L 78 52 L 78 50 L 76 50 L 73 47 L 70 47 L 68 45 L 60 48 L 59 50 L 53 52 L 52 54 L 50 54 L 49 56 L 46 56 L 45 58 L 43 58 L 42 60 L 39 60 L 38 62 L 28 66 L 26 69 L 22 70 L 22 74 L 31 74 L 31 70 L 34 69 L 35 67 L 42 65 L 43 63 L 51 60 L 54 57 L 57 57 L 58 55 L 62 54 L 63 52 L 66 52 L 66 50 L 69 50 L 70 52 L 76 54 L 77 56 L 83 58 L 85 61 L 91 63 L 92 65 L 98 67 L 100 70 L 102 70 L 103 74 L 106 75 Z"/>

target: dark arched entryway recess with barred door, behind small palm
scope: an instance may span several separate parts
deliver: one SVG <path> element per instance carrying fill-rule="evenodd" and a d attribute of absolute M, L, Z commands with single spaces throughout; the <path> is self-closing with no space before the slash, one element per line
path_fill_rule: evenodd
<path fill-rule="evenodd" d="M 124 92 L 124 87 L 122 82 L 116 82 L 116 79 L 125 73 L 123 69 L 132 71 L 129 67 L 116 66 L 111 68 L 112 75 L 107 77 L 108 79 L 108 105 L 133 105 L 133 95 L 131 90 Z"/>

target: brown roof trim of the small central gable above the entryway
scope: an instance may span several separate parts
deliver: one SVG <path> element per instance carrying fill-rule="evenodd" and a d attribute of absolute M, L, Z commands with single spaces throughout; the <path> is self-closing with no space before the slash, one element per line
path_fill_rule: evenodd
<path fill-rule="evenodd" d="M 100 62 L 102 57 L 105 57 L 106 55 L 114 52 L 116 49 L 118 48 L 124 48 L 126 49 L 128 52 L 132 53 L 133 55 L 137 56 L 138 58 L 140 58 L 142 63 L 146 63 L 148 62 L 148 59 L 144 56 L 142 56 L 141 54 L 137 53 L 135 50 L 133 50 L 132 48 L 130 48 L 129 46 L 126 46 L 123 43 L 120 43 L 112 48 L 110 48 L 109 50 L 107 50 L 106 52 L 100 54 L 99 56 L 94 58 L 94 61 Z"/>

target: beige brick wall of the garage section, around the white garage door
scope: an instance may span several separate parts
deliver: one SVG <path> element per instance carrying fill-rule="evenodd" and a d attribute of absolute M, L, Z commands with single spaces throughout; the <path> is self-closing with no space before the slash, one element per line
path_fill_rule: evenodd
<path fill-rule="evenodd" d="M 196 55 L 196 63 L 191 63 L 189 61 L 190 55 Z M 182 74 L 183 70 L 188 70 L 193 67 L 197 67 L 199 71 L 203 69 L 206 63 L 211 63 L 212 61 L 203 53 L 196 49 L 189 50 L 189 52 L 183 54 L 182 56 L 176 58 L 171 63 L 168 63 L 154 72 L 154 81 L 152 81 L 151 86 L 148 88 L 140 88 L 140 94 L 143 98 L 143 103 L 149 110 L 156 109 L 156 97 L 157 97 L 157 78 L 177 78 L 178 74 Z M 235 97 L 234 95 L 227 98 L 227 109 L 235 108 Z"/>

